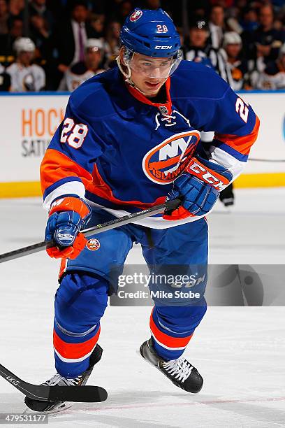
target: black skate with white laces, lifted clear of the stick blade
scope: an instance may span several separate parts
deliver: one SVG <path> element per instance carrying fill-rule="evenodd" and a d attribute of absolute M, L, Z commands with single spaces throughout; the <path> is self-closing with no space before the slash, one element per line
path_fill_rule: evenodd
<path fill-rule="evenodd" d="M 182 390 L 196 393 L 203 387 L 202 376 L 200 376 L 198 370 L 193 367 L 187 359 L 180 357 L 178 359 L 166 361 L 159 357 L 152 345 L 152 338 L 142 343 L 140 346 L 140 354 L 147 362 L 162 371 L 174 385 L 182 388 Z"/>

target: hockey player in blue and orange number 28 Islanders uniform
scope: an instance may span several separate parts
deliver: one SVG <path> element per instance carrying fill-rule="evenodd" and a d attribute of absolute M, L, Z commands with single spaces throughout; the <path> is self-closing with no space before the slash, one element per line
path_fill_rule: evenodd
<path fill-rule="evenodd" d="M 110 264 L 122 272 L 136 242 L 154 271 L 164 266 L 172 272 L 177 265 L 187 273 L 204 269 L 196 301 L 154 299 L 152 335 L 140 347 L 142 357 L 175 385 L 199 392 L 203 378 L 183 352 L 206 311 L 205 215 L 219 191 L 242 172 L 259 121 L 215 71 L 181 62 L 180 37 L 163 10 L 134 10 L 121 41 L 118 66 L 71 94 L 41 164 L 49 210 L 45 238 L 57 243 L 47 252 L 62 258 L 54 306 L 57 373 L 46 384 L 86 383 L 101 358 L 97 342 L 110 292 Z M 204 147 L 198 144 L 202 129 L 216 132 Z M 182 201 L 172 213 L 88 241 L 80 234 L 87 222 L 91 227 L 155 206 L 167 195 Z M 25 402 L 36 411 L 65 406 Z"/>

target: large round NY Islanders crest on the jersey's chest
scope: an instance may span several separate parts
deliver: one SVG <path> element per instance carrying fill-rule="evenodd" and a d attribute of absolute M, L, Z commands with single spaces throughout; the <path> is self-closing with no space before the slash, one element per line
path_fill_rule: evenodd
<path fill-rule="evenodd" d="M 142 160 L 147 178 L 154 183 L 172 183 L 184 170 L 199 140 L 199 131 L 180 132 L 149 150 Z"/>

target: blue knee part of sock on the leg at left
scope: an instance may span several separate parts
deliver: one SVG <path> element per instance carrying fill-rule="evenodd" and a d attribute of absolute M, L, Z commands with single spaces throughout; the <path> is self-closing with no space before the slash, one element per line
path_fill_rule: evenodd
<path fill-rule="evenodd" d="M 108 282 L 86 273 L 68 273 L 55 294 L 56 322 L 67 331 L 82 333 L 96 325 L 108 304 Z"/>

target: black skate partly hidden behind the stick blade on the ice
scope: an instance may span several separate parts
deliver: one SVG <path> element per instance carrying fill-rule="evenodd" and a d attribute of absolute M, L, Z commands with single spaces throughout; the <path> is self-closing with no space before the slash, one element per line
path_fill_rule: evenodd
<path fill-rule="evenodd" d="M 97 343 L 97 345 L 94 348 L 94 351 L 90 355 L 90 364 L 88 369 L 85 372 L 81 373 L 79 376 L 77 376 L 74 379 L 64 378 L 64 376 L 61 376 L 59 373 L 56 373 L 54 376 L 52 376 L 52 378 L 46 380 L 43 383 L 43 385 L 48 385 L 48 386 L 86 385 L 87 380 L 92 373 L 94 365 L 97 364 L 102 357 L 102 352 L 103 352 L 103 349 Z M 40 401 L 40 400 L 30 399 L 29 397 L 25 397 L 24 402 L 32 411 L 43 412 L 43 413 L 55 413 L 55 412 L 65 410 L 68 407 L 71 407 L 71 404 L 67 405 L 64 401 Z"/>

